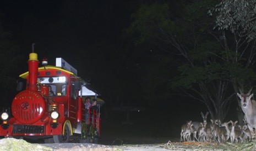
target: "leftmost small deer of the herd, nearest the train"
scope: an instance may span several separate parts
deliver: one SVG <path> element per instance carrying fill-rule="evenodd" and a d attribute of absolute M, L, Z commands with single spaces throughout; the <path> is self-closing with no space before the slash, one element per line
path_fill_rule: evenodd
<path fill-rule="evenodd" d="M 181 126 L 181 142 L 182 142 L 182 137 L 184 141 L 191 141 L 191 133 L 194 132 L 194 127 L 192 124 L 192 121 L 187 121 L 187 124 L 183 124 Z"/>

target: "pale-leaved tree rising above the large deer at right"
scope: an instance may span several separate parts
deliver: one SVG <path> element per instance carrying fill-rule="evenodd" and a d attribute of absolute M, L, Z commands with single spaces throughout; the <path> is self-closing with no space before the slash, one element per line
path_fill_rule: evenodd
<path fill-rule="evenodd" d="M 255 1 L 221 1 L 208 13 L 213 16 L 215 28 L 220 32 L 220 42 L 230 62 L 231 82 L 235 93 L 247 94 L 255 87 Z M 237 65 L 237 66 L 236 66 Z M 255 90 L 254 90 L 255 91 Z M 243 124 L 240 99 L 238 120 Z"/>

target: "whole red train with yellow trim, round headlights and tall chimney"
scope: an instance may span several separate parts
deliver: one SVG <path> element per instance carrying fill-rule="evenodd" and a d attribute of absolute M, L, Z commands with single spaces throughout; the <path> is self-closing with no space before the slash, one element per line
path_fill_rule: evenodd
<path fill-rule="evenodd" d="M 100 104 L 97 110 L 89 111 L 85 121 L 83 91 L 88 90 L 87 83 L 61 58 L 56 59 L 56 66 L 48 66 L 47 60 L 42 64 L 39 67 L 36 53 L 29 54 L 29 71 L 20 75 L 26 80 L 26 89 L 14 97 L 11 113 L 0 114 L 0 136 L 42 138 L 47 143 L 66 143 L 74 137 L 79 142 L 97 143 L 101 136 Z"/>

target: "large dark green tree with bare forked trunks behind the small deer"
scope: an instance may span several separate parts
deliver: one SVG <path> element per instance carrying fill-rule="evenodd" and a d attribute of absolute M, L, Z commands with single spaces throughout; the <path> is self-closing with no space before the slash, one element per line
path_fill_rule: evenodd
<path fill-rule="evenodd" d="M 232 38 L 232 34 L 213 30 L 214 20 L 207 12 L 216 1 L 177 4 L 179 12 L 172 11 L 168 3 L 141 5 L 127 33 L 136 44 L 155 44 L 159 53 L 174 54 L 179 75 L 165 82 L 171 81 L 171 88 L 203 102 L 211 118 L 222 121 L 235 98 L 233 79 L 255 79 L 254 71 L 244 68 L 244 57 L 236 49 L 226 49 L 232 39 L 222 38 Z M 166 69 L 170 72 L 172 68 Z"/>

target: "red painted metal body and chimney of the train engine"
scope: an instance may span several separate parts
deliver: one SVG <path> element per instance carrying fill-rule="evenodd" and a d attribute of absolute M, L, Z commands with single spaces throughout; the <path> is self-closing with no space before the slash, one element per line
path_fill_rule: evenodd
<path fill-rule="evenodd" d="M 44 138 L 63 135 L 65 126 L 69 127 L 69 135 L 74 135 L 77 125 L 85 123 L 85 106 L 81 96 L 78 96 L 79 89 L 73 87 L 81 79 L 60 67 L 39 68 L 38 62 L 37 58 L 29 59 L 29 72 L 20 75 L 26 79 L 26 90 L 20 91 L 14 97 L 12 117 L 2 122 L 0 136 Z M 50 96 L 48 86 L 55 89 L 54 96 Z M 51 117 L 53 111 L 59 113 L 57 119 Z M 99 114 L 93 113 L 93 116 L 95 121 L 91 125 L 100 135 Z"/>

